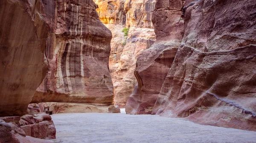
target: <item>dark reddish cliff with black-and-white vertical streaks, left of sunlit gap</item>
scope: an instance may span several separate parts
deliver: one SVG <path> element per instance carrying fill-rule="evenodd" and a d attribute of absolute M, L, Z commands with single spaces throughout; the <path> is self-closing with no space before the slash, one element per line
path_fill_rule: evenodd
<path fill-rule="evenodd" d="M 43 0 L 52 32 L 47 76 L 32 102 L 112 104 L 109 73 L 111 31 L 92 0 Z"/>

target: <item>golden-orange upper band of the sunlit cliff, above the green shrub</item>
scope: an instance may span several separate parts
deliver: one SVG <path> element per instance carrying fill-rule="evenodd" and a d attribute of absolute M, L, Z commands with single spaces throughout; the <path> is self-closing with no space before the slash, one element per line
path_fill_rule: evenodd
<path fill-rule="evenodd" d="M 151 22 L 155 0 L 94 0 L 99 19 L 104 24 L 153 28 Z"/>

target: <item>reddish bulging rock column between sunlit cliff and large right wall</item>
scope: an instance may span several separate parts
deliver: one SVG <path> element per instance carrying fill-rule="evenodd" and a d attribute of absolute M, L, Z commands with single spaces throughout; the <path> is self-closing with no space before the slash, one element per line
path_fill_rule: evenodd
<path fill-rule="evenodd" d="M 157 1 L 152 17 L 157 40 L 137 59 L 134 75 L 138 83 L 127 101 L 127 114 L 151 114 L 183 36 L 182 5 L 182 0 Z"/>

